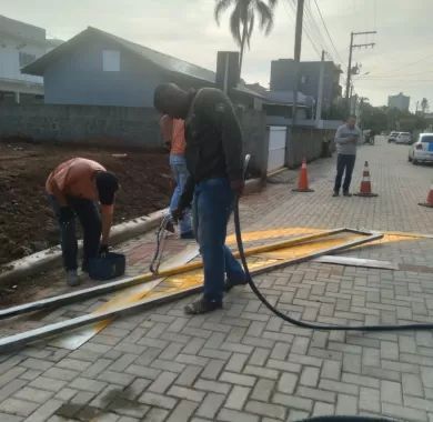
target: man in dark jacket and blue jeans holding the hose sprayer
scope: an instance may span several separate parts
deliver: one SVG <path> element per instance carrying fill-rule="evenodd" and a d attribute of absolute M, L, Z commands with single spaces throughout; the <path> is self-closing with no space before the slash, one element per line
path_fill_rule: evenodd
<path fill-rule="evenodd" d="M 185 307 L 185 312 L 210 312 L 222 308 L 224 288 L 244 284 L 246 279 L 225 245 L 233 200 L 244 185 L 241 129 L 229 98 L 214 88 L 187 92 L 172 83 L 162 84 L 155 90 L 154 107 L 185 120 L 190 178 L 173 214 L 181 217 L 193 202 L 194 233 L 204 268 L 203 297 Z"/>

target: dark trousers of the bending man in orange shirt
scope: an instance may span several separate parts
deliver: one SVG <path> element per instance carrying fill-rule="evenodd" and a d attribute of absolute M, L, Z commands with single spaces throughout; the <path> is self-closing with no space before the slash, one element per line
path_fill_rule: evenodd
<path fill-rule="evenodd" d="M 60 205 L 56 197 L 48 197 L 60 228 L 60 243 L 62 248 L 63 267 L 66 270 L 77 270 L 78 243 L 75 234 L 75 219 L 69 224 L 59 221 Z M 88 199 L 68 198 L 68 205 L 78 215 L 83 231 L 82 268 L 89 265 L 91 258 L 97 258 L 101 239 L 101 217 L 97 204 Z"/>

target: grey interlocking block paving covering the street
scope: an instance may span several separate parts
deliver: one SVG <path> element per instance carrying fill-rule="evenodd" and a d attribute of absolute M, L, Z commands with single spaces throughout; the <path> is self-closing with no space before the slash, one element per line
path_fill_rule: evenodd
<path fill-rule="evenodd" d="M 311 163 L 315 192 L 269 184 L 242 201 L 243 231 L 351 227 L 432 234 L 433 210 L 417 205 L 427 194 L 432 168 L 407 163 L 406 153 L 406 147 L 387 143 L 360 149 L 352 190 L 358 191 L 367 160 L 379 193 L 372 199 L 332 198 L 334 159 Z M 149 233 L 122 247 L 131 274 L 147 270 L 153 239 Z M 171 241 L 170 253 L 184 245 Z M 432 239 L 407 238 L 343 254 L 391 260 L 405 270 L 308 262 L 256 281 L 280 310 L 305 321 L 433 321 Z M 118 319 L 75 351 L 40 343 L 0 356 L 0 420 L 271 422 L 373 414 L 433 421 L 432 332 L 301 330 L 271 315 L 249 288 L 233 289 L 224 309 L 209 315 L 185 316 L 191 300 Z M 102 302 L 3 322 L 1 335 L 85 313 Z"/>

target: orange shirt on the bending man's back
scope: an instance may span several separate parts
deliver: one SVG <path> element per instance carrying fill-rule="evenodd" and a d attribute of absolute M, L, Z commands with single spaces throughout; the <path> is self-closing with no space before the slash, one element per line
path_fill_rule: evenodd
<path fill-rule="evenodd" d="M 105 171 L 105 168 L 93 160 L 83 158 L 73 158 L 59 164 L 48 177 L 47 192 L 53 193 L 53 184 L 66 197 L 83 198 L 91 201 L 98 201 L 99 194 L 94 183 L 94 173 Z M 113 205 L 102 205 L 107 210 L 113 209 Z"/>

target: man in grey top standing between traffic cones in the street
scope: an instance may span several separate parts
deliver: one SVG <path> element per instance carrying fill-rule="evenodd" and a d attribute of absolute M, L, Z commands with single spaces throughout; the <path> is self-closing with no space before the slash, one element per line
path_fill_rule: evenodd
<path fill-rule="evenodd" d="M 361 130 L 356 127 L 356 118 L 350 115 L 346 123 L 342 124 L 335 133 L 336 144 L 336 177 L 333 197 L 339 197 L 341 182 L 344 174 L 343 195 L 352 197 L 350 185 L 353 168 L 356 160 L 356 147 L 361 141 Z"/>

